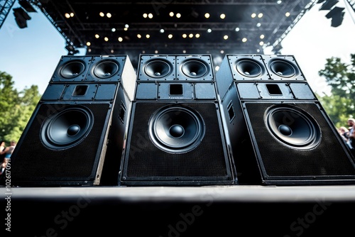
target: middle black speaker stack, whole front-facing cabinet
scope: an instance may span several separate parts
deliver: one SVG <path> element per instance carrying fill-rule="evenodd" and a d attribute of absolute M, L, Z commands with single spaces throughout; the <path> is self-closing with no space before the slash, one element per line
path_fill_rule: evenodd
<path fill-rule="evenodd" d="M 141 55 L 138 65 L 119 183 L 236 184 L 211 56 Z"/>

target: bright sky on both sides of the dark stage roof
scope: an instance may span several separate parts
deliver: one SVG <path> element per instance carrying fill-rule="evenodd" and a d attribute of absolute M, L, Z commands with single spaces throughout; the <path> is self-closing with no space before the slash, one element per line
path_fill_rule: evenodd
<path fill-rule="evenodd" d="M 346 7 L 346 0 L 339 0 L 337 6 Z M 329 94 L 329 86 L 318 75 L 326 59 L 340 57 L 350 63 L 350 54 L 355 53 L 355 13 L 347 6 L 342 25 L 334 28 L 325 15 L 319 11 L 322 4 L 316 4 L 307 11 L 293 29 L 285 36 L 281 45 L 282 55 L 294 55 L 308 84 L 317 94 Z M 13 7 L 18 7 L 16 4 Z M 38 10 L 38 9 L 36 9 Z M 31 20 L 27 28 L 18 28 L 12 10 L 0 28 L 0 71 L 13 77 L 14 87 L 21 91 L 31 85 L 38 85 L 43 94 L 58 65 L 60 57 L 67 55 L 65 39 L 40 13 L 29 13 Z M 80 49 L 77 55 L 84 55 Z M 266 48 L 263 54 L 273 54 Z"/>

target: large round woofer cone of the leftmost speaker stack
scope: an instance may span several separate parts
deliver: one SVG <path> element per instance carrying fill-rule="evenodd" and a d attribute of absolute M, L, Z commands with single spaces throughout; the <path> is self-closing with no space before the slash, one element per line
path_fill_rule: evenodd
<path fill-rule="evenodd" d="M 67 108 L 45 120 L 40 132 L 41 140 L 50 149 L 70 148 L 87 136 L 93 123 L 94 117 L 89 110 Z"/>

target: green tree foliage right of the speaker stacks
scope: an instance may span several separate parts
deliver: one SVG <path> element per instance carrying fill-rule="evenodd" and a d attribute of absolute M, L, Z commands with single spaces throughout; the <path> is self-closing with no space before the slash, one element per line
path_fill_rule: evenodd
<path fill-rule="evenodd" d="M 339 57 L 328 58 L 318 74 L 332 88 L 330 96 L 318 97 L 322 106 L 335 126 L 346 126 L 347 119 L 355 116 L 355 54 L 351 54 L 350 64 Z"/>

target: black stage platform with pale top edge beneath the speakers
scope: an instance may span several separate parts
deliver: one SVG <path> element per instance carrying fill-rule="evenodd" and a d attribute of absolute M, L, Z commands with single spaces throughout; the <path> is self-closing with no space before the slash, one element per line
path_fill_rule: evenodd
<path fill-rule="evenodd" d="M 354 234 L 354 185 L 1 187 L 0 193 L 2 226 L 11 214 L 13 236 Z"/>

